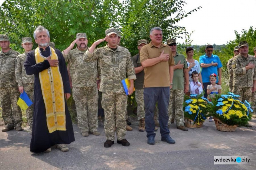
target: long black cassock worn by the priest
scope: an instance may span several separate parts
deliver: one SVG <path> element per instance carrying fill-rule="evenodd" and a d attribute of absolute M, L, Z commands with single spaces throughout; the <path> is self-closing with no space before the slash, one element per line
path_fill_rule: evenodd
<path fill-rule="evenodd" d="M 44 51 L 40 48 L 41 54 L 45 57 L 51 55 L 50 48 L 47 47 Z M 61 54 L 60 50 L 55 49 L 55 52 L 59 60 L 59 70 L 63 81 L 64 93 L 71 93 L 69 85 L 68 71 L 65 64 L 65 59 Z M 30 142 L 31 152 L 44 152 L 48 148 L 55 144 L 69 144 L 75 141 L 73 126 L 71 117 L 69 114 L 67 102 L 65 100 L 65 111 L 66 111 L 66 131 L 55 131 L 49 133 L 46 123 L 46 111 L 44 99 L 42 96 L 42 90 L 39 79 L 39 72 L 48 69 L 50 64 L 47 60 L 42 63 L 36 64 L 35 62 L 35 50 L 30 51 L 26 57 L 24 67 L 28 75 L 34 74 L 34 114 L 33 114 L 33 127 L 32 127 L 32 138 Z"/>

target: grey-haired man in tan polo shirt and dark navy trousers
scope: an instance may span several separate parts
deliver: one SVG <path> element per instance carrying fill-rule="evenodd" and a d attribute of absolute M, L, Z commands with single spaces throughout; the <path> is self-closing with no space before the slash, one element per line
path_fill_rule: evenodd
<path fill-rule="evenodd" d="M 162 29 L 150 31 L 151 42 L 142 47 L 140 61 L 144 68 L 144 104 L 147 143 L 155 144 L 154 109 L 158 102 L 161 141 L 174 144 L 168 129 L 168 104 L 172 88 L 174 60 L 171 49 L 162 43 Z"/>

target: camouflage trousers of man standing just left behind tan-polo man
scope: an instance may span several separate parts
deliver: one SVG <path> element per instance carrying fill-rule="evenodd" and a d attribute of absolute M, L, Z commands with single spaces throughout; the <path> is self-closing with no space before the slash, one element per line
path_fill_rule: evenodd
<path fill-rule="evenodd" d="M 144 89 L 135 90 L 135 100 L 137 102 L 137 116 L 138 120 L 145 118 L 144 100 L 143 100 Z"/>

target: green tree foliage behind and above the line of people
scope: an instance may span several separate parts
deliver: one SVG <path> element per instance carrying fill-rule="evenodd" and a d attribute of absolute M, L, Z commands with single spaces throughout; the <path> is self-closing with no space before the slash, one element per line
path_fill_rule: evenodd
<path fill-rule="evenodd" d="M 164 41 L 187 35 L 177 23 L 201 7 L 186 13 L 184 5 L 185 0 L 6 0 L 0 7 L 0 33 L 8 34 L 12 47 L 21 51 L 21 38 L 33 37 L 34 29 L 42 25 L 56 48 L 63 50 L 76 33 L 85 32 L 92 44 L 114 27 L 122 32 L 121 45 L 133 55 L 138 52 L 137 40 L 149 40 L 153 27 L 163 29 Z"/>

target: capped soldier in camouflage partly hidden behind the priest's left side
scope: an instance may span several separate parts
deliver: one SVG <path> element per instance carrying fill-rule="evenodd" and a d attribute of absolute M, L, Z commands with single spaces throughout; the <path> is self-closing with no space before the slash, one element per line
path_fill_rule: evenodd
<path fill-rule="evenodd" d="M 26 91 L 29 99 L 33 102 L 34 98 L 34 75 L 27 75 L 26 70 L 24 68 L 24 62 L 26 56 L 29 51 L 32 50 L 33 43 L 32 38 L 25 37 L 22 38 L 22 47 L 25 50 L 25 53 L 20 54 L 16 58 L 16 65 L 15 65 L 15 76 L 16 82 L 18 83 L 19 92 L 23 93 L 23 90 Z M 30 132 L 32 134 L 32 125 L 33 125 L 33 106 L 29 106 L 26 110 L 26 116 L 28 120 L 28 125 Z"/>

